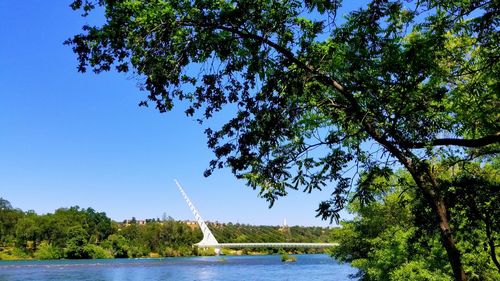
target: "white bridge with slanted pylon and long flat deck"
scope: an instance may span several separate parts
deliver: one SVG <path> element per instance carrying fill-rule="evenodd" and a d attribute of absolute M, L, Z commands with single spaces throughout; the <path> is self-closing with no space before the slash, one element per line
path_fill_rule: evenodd
<path fill-rule="evenodd" d="M 198 210 L 196 210 L 191 200 L 189 200 L 189 197 L 186 192 L 184 192 L 184 189 L 182 189 L 182 186 L 177 180 L 174 181 L 184 197 L 184 200 L 186 200 L 189 209 L 193 212 L 194 218 L 203 233 L 203 239 L 195 244 L 195 246 L 200 248 L 215 248 L 215 253 L 219 254 L 221 248 L 329 248 L 338 246 L 338 243 L 219 243 L 217 242 L 217 239 L 215 239 L 212 231 L 210 231 L 205 221 L 201 218 Z"/>

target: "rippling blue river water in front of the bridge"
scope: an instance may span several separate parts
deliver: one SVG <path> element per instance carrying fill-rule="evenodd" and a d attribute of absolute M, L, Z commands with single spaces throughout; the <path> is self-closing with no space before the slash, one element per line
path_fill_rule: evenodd
<path fill-rule="evenodd" d="M 0 261 L 0 281 L 59 280 L 339 280 L 356 272 L 328 255 L 279 255 L 163 259 Z"/>

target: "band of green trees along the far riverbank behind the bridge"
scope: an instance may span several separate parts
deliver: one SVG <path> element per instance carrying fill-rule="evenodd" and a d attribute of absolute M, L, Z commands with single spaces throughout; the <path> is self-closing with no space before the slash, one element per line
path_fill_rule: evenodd
<path fill-rule="evenodd" d="M 254 226 L 207 222 L 227 243 L 331 242 L 338 228 Z M 212 256 L 192 245 L 202 239 L 196 222 L 162 219 L 116 222 L 92 208 L 59 208 L 38 215 L 0 198 L 0 260 L 108 259 Z M 222 249 L 224 255 L 324 253 L 322 249 Z"/>

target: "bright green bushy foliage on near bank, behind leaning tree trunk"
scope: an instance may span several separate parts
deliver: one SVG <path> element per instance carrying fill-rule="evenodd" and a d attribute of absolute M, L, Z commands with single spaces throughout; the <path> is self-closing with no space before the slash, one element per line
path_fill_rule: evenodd
<path fill-rule="evenodd" d="M 471 280 L 499 280 L 500 174 L 497 167 L 478 163 L 439 165 L 447 188 L 451 224 L 465 272 Z M 337 260 L 351 262 L 360 280 L 450 280 L 439 233 L 429 219 L 424 199 L 409 188 L 411 177 L 399 172 L 375 179 L 376 200 L 354 199 L 354 220 L 342 222 L 334 239 Z M 453 198 L 453 199 L 451 199 Z"/>

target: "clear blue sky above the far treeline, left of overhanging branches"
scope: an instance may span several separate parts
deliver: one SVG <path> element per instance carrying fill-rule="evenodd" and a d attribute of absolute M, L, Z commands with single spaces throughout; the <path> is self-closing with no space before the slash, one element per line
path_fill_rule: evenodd
<path fill-rule="evenodd" d="M 121 221 L 192 219 L 177 178 L 207 220 L 322 225 L 329 191 L 291 191 L 272 209 L 228 170 L 209 178 L 203 128 L 182 106 L 160 114 L 126 75 L 80 74 L 62 42 L 84 19 L 71 1 L 0 1 L 0 197 L 37 213 L 78 205 Z"/>

